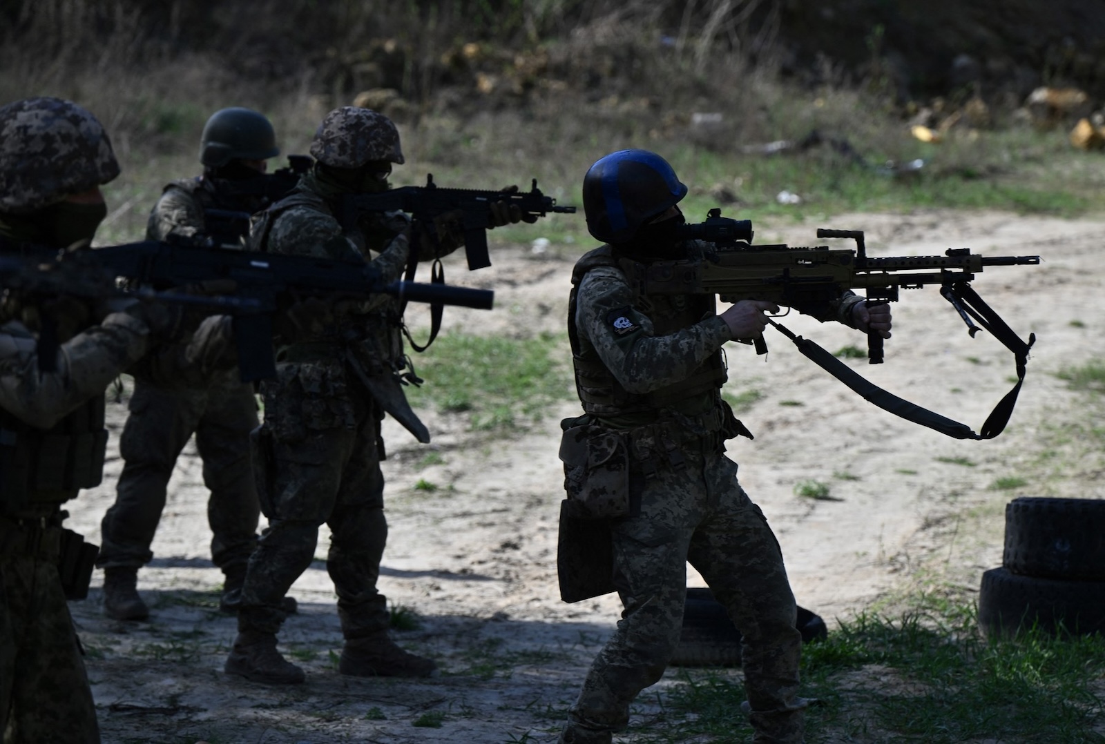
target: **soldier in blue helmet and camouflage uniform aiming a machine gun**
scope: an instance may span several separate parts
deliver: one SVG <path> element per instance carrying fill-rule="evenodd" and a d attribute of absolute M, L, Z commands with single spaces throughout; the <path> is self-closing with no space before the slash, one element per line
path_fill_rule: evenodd
<path fill-rule="evenodd" d="M 680 639 L 688 561 L 744 636 L 753 741 L 802 741 L 794 597 L 771 529 L 724 455 L 726 439 L 751 435 L 720 397 L 722 346 L 759 336 L 765 311 L 779 308 L 744 300 L 718 316 L 713 297 L 642 295 L 629 278 L 651 262 L 701 256 L 704 245 L 676 237 L 686 192 L 672 167 L 644 150 L 608 155 L 583 180 L 588 228 L 607 245 L 572 273 L 568 333 L 586 413 L 561 424 L 565 513 L 575 519 L 560 529 L 577 519 L 609 523 L 613 586 L 625 609 L 561 744 L 609 744 L 633 699 L 663 674 Z M 885 306 L 850 296 L 825 312 L 890 336 Z"/>

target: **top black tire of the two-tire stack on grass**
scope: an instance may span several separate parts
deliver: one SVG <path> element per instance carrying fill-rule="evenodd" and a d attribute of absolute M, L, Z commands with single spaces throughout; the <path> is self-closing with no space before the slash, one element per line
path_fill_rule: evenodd
<path fill-rule="evenodd" d="M 1013 499 L 1001 564 L 1024 576 L 1105 582 L 1105 500 Z"/>

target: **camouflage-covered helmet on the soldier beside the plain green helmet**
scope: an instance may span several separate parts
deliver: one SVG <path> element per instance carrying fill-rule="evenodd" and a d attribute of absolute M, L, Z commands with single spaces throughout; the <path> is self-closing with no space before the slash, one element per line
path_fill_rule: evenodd
<path fill-rule="evenodd" d="M 315 160 L 332 168 L 360 168 L 372 160 L 403 163 L 399 130 L 383 114 L 357 106 L 326 115 L 311 144 Z"/>

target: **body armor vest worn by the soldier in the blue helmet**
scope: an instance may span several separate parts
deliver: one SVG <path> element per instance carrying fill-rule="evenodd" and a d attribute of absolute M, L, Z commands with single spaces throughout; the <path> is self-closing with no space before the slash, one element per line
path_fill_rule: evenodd
<path fill-rule="evenodd" d="M 712 296 L 642 295 L 630 278 L 640 273 L 642 265 L 629 258 L 615 257 L 609 245 L 585 254 L 572 269 L 571 295 L 568 299 L 568 339 L 571 342 L 576 391 L 583 404 L 583 411 L 597 416 L 654 412 L 719 390 L 728 379 L 720 349 L 711 354 L 691 376 L 649 393 L 630 393 L 618 382 L 613 373 L 602 363 L 594 347 L 586 339 L 579 338 L 576 328 L 579 284 L 589 270 L 599 266 L 612 266 L 625 275 L 634 291 L 633 306 L 645 311 L 652 320 L 653 332 L 656 336 L 669 336 L 681 331 L 714 311 Z"/>

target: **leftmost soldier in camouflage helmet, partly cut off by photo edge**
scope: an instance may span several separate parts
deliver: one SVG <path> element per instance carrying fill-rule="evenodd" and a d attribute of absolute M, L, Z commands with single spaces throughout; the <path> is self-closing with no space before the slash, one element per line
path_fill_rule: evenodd
<path fill-rule="evenodd" d="M 0 107 L 0 251 L 90 243 L 107 211 L 99 185 L 118 172 L 103 127 L 76 104 L 28 98 Z M 81 536 L 62 528 L 61 506 L 101 481 L 104 389 L 173 334 L 179 318 L 156 305 L 108 311 L 54 298 L 61 346 L 50 372 L 40 370 L 36 352 L 42 300 L 13 290 L 2 299 L 0 731 L 18 744 L 98 742 L 65 605 L 66 596 L 87 592 L 95 550 L 82 550 Z M 167 378 L 182 373 L 162 371 Z M 75 564 L 63 560 L 73 555 Z"/>

